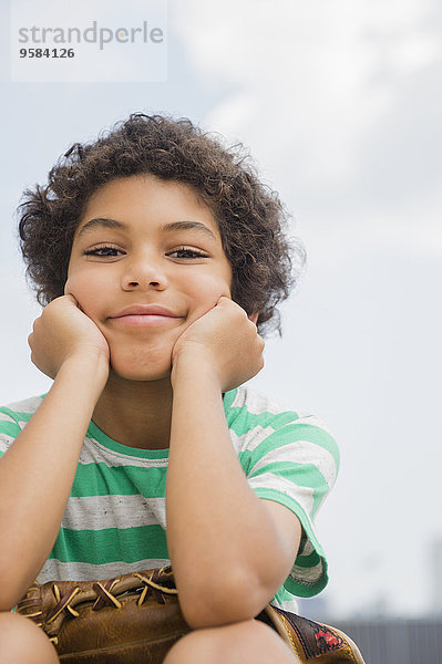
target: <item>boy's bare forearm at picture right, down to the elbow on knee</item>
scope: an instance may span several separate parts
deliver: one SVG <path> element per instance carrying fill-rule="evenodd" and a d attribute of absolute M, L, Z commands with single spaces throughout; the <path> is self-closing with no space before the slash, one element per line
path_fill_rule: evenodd
<path fill-rule="evenodd" d="M 276 591 L 280 542 L 239 465 L 216 382 L 191 365 L 174 385 L 166 509 L 187 620 L 206 626 L 253 618 Z M 205 600 L 210 606 L 199 609 Z"/>

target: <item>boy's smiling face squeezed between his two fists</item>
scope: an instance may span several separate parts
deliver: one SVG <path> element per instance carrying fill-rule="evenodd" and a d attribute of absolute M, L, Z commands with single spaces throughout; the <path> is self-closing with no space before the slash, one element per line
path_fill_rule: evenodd
<path fill-rule="evenodd" d="M 222 295 L 230 297 L 230 284 L 217 224 L 194 191 L 132 176 L 89 200 L 65 292 L 105 336 L 114 372 L 150 381 L 168 375 L 175 341 Z"/>

